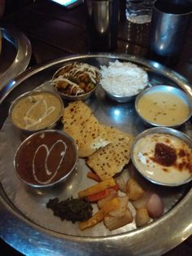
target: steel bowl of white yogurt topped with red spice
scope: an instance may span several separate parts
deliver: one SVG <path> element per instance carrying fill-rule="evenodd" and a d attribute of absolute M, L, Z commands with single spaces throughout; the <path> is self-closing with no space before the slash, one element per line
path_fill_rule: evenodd
<path fill-rule="evenodd" d="M 172 143 L 171 137 L 174 138 L 174 142 Z M 152 139 L 151 139 L 152 136 Z M 185 160 L 185 158 L 182 158 L 184 156 L 181 156 L 182 150 L 183 152 L 186 152 L 184 147 L 179 149 L 177 148 L 175 139 L 179 139 L 181 143 L 185 143 L 189 149 L 189 155 L 186 154 L 185 157 L 188 155 Z M 167 142 L 167 143 L 166 143 Z M 164 144 L 170 144 L 169 152 L 161 150 L 159 152 L 161 154 L 160 157 L 172 157 L 172 148 L 177 148 L 177 159 L 178 161 L 172 161 L 172 165 L 170 161 L 170 158 L 166 159 L 163 158 L 164 163 L 158 162 L 155 160 L 155 144 L 160 143 L 161 145 Z M 152 149 L 151 149 L 152 148 Z M 152 152 L 154 151 L 154 152 Z M 165 156 L 166 155 L 166 156 Z M 191 155 L 191 156 L 190 156 Z M 191 159 L 192 158 L 192 139 L 190 139 L 189 136 L 185 135 L 179 130 L 175 130 L 168 127 L 155 127 L 151 129 L 144 130 L 141 134 L 137 135 L 137 137 L 134 139 L 132 148 L 131 148 L 131 159 L 133 161 L 133 165 L 136 167 L 138 172 L 142 174 L 142 176 L 152 183 L 156 183 L 163 186 L 168 187 L 177 187 L 181 186 L 185 183 L 189 183 L 192 180 L 192 174 L 190 173 L 190 167 L 191 166 Z M 162 160 L 162 158 L 161 158 Z M 187 164 L 186 161 L 189 161 Z M 185 164 L 186 163 L 186 164 Z M 156 165 L 156 166 L 155 166 Z M 180 166 L 181 165 L 181 166 Z M 184 165 L 184 168 L 187 170 L 186 172 L 182 170 L 182 165 Z M 169 167 L 172 167 L 171 169 L 168 169 Z M 188 166 L 188 167 L 187 167 Z M 170 167 L 170 168 L 171 168 Z M 155 169 L 156 168 L 156 169 Z M 185 177 L 181 177 L 181 173 L 185 175 Z"/>

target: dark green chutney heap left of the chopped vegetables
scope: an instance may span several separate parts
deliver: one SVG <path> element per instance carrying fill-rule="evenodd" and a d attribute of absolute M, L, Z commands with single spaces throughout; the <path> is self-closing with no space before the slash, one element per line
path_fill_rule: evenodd
<path fill-rule="evenodd" d="M 59 198 L 50 199 L 46 204 L 47 208 L 53 210 L 54 215 L 61 220 L 70 220 L 72 223 L 81 222 L 92 216 L 93 207 L 84 198 L 68 198 L 59 201 Z"/>

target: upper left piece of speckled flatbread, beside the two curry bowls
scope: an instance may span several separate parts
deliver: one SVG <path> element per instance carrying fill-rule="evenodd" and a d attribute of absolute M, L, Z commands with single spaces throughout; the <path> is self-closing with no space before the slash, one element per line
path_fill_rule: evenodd
<path fill-rule="evenodd" d="M 79 157 L 88 157 L 98 148 L 111 143 L 104 126 L 98 123 L 90 108 L 81 101 L 70 103 L 64 108 L 63 130 L 76 140 Z"/>

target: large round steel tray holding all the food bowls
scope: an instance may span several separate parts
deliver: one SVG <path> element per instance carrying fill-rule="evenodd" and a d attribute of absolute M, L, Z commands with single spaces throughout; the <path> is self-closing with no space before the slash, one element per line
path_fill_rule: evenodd
<path fill-rule="evenodd" d="M 109 61 L 131 61 L 146 69 L 152 86 L 167 84 L 179 86 L 192 96 L 190 83 L 178 73 L 164 66 L 138 59 L 133 55 L 74 55 L 52 61 L 20 74 L 15 84 L 7 90 L 0 101 L 0 232 L 2 238 L 21 253 L 47 255 L 161 255 L 184 241 L 192 234 L 192 189 L 191 183 L 177 188 L 162 188 L 141 177 L 132 165 L 129 172 L 139 179 L 144 188 L 159 193 L 164 200 L 165 214 L 146 227 L 135 228 L 131 223 L 114 232 L 108 232 L 103 223 L 85 232 L 78 231 L 75 224 L 61 222 L 46 209 L 48 199 L 55 196 L 67 198 L 77 195 L 76 188 L 81 190 L 91 181 L 85 178 L 84 161 L 78 161 L 77 173 L 69 180 L 67 187 L 47 192 L 26 189 L 17 179 L 13 170 L 13 155 L 18 147 L 22 134 L 15 130 L 7 119 L 11 101 L 28 90 L 50 88 L 50 78 L 56 69 L 68 61 L 81 61 L 95 66 L 108 64 Z M 39 87 L 40 86 L 40 87 Z M 134 110 L 134 103 L 118 104 L 107 98 L 103 89 L 98 87 L 96 94 L 86 101 L 93 109 L 98 120 L 113 125 L 133 135 L 147 127 Z M 180 130 L 192 137 L 190 121 Z M 86 185 L 86 186 L 85 186 Z"/>

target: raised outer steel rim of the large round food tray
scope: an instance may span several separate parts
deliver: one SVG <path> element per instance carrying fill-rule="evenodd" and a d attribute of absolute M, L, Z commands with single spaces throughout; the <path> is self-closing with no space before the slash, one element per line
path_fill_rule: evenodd
<path fill-rule="evenodd" d="M 61 58 L 59 60 L 55 60 L 54 62 L 41 65 L 37 68 L 33 68 L 32 70 L 26 70 L 23 74 L 15 79 L 15 85 L 11 87 L 11 90 L 15 88 L 15 86 L 19 85 L 20 82 L 23 82 L 28 77 L 32 76 L 35 73 L 41 71 L 41 69 L 49 68 L 55 64 L 62 64 L 63 62 L 67 62 L 69 60 L 81 60 L 82 58 L 111 58 L 111 59 L 120 59 L 120 60 L 129 60 L 133 61 L 136 64 L 143 64 L 148 68 L 152 68 L 154 71 L 159 72 L 161 74 L 165 74 L 173 81 L 176 82 L 178 86 L 181 86 L 183 90 L 185 90 L 189 95 L 192 95 L 191 88 L 189 83 L 185 80 L 184 77 L 181 77 L 179 74 L 173 72 L 168 68 L 164 68 L 161 64 L 156 64 L 153 61 L 146 61 L 143 59 L 136 58 L 132 55 L 108 55 L 108 54 L 98 54 L 98 55 L 72 55 L 70 57 Z M 160 69 L 158 69 L 160 68 Z M 189 89 L 190 88 L 190 89 Z M 11 90 L 7 90 L 2 100 L 6 98 L 6 96 L 11 92 Z M 0 100 L 0 104 L 2 102 Z M 2 190 L 2 189 L 1 189 Z M 13 218 L 13 223 L 15 223 L 15 227 L 20 224 L 20 234 L 24 236 L 22 232 L 28 230 L 32 234 L 36 235 L 35 240 L 41 239 L 41 241 L 50 241 L 50 243 L 63 243 L 63 246 L 72 245 L 73 249 L 77 251 L 82 250 L 84 254 L 79 255 L 89 255 L 89 249 L 86 251 L 86 245 L 91 245 L 95 247 L 95 252 L 98 252 L 98 246 L 102 246 L 103 249 L 107 247 L 107 252 L 112 252 L 113 248 L 118 248 L 122 255 L 137 254 L 141 255 L 142 253 L 153 253 L 153 255 L 160 255 L 164 252 L 172 249 L 176 245 L 180 244 L 187 237 L 189 237 L 192 233 L 192 226 L 190 225 L 192 215 L 192 209 L 190 205 L 192 204 L 192 189 L 186 194 L 186 196 L 178 202 L 178 204 L 173 207 L 173 209 L 164 214 L 162 218 L 158 221 L 154 221 L 153 223 L 148 224 L 146 227 L 138 228 L 137 230 L 133 230 L 131 232 L 126 232 L 122 234 L 117 234 L 113 236 L 107 237 L 88 237 L 88 236 L 70 236 L 64 235 L 60 233 L 56 233 L 50 230 L 46 230 L 44 227 L 38 226 L 36 223 L 28 220 L 23 214 L 20 214 L 20 211 L 15 209 L 14 205 L 11 205 L 11 201 L 6 198 L 6 195 L 1 195 L 0 201 L 2 205 L 2 212 L 7 212 L 7 215 L 10 218 Z M 2 224 L 6 222 L 5 216 L 2 216 Z M 3 222 L 4 220 L 4 222 Z M 176 225 L 177 223 L 177 225 Z M 10 224 L 10 223 L 9 223 Z M 170 232 L 170 233 L 169 233 Z M 170 237 L 170 234 L 172 235 Z M 158 239 L 153 241 L 151 244 L 151 233 L 155 234 Z M 179 234 L 179 235 L 178 235 Z M 6 236 L 6 235 L 5 235 Z M 30 243 L 26 241 L 25 237 L 22 237 L 28 245 Z M 33 244 L 33 243 L 32 243 Z M 120 249 L 120 245 L 122 249 Z M 40 245 L 41 248 L 46 249 L 46 245 Z M 60 245 L 61 246 L 61 245 Z M 63 251 L 59 250 L 60 252 Z M 21 246 L 22 247 L 22 246 Z M 49 246 L 48 246 L 49 247 Z M 68 247 L 68 246 L 67 246 Z M 111 249 L 110 249 L 111 247 Z M 20 248 L 22 251 L 22 248 Z M 88 254 L 87 254 L 88 252 Z M 123 254 L 123 252 L 125 254 Z M 156 252 L 156 253 L 155 253 Z M 50 254 L 51 255 L 51 254 Z M 93 254 L 94 255 L 94 254 Z M 96 254 L 95 254 L 96 255 Z"/>

